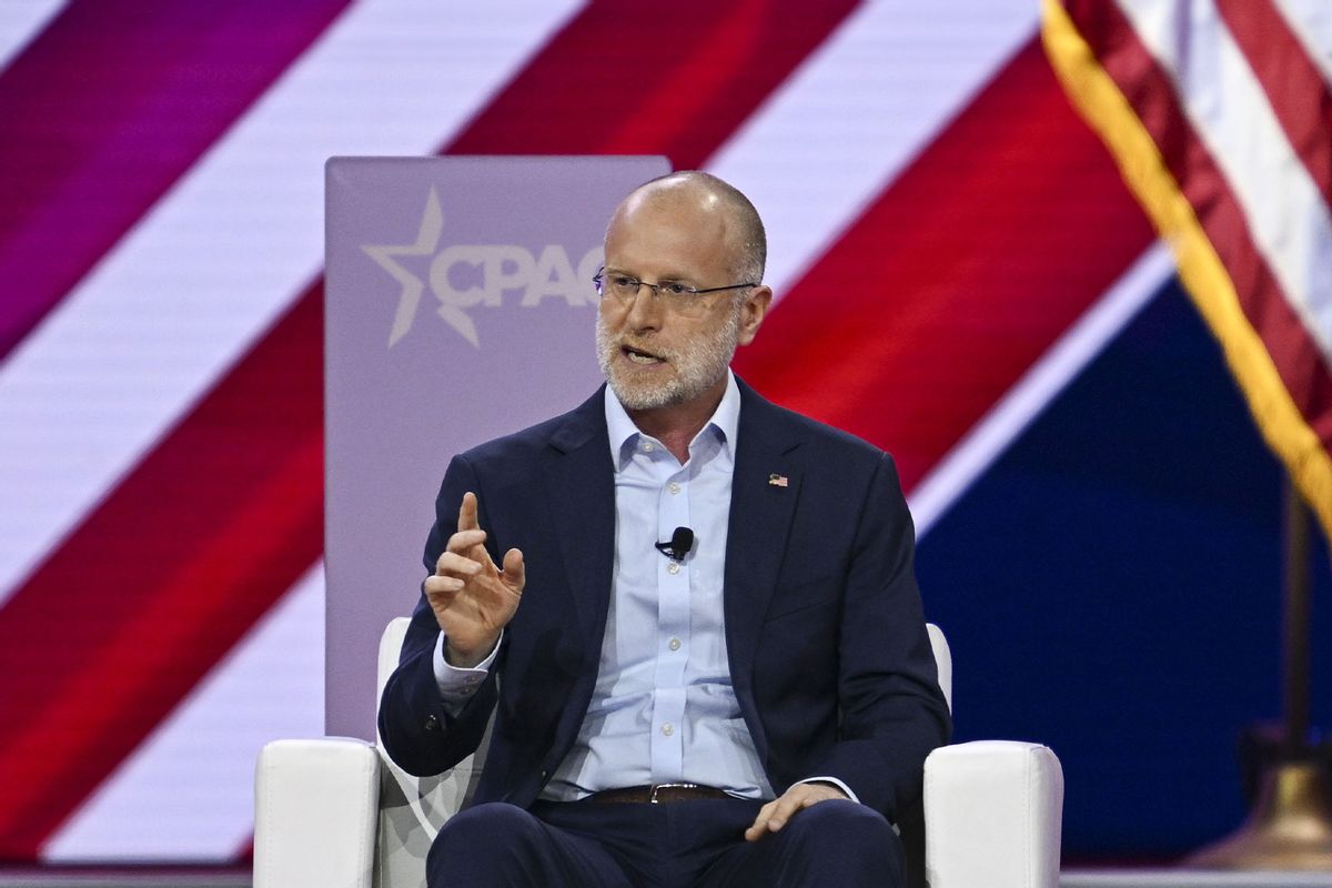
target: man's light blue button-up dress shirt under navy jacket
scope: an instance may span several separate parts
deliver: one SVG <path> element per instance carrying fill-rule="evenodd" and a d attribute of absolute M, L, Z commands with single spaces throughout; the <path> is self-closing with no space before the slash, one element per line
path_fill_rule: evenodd
<path fill-rule="evenodd" d="M 771 799 L 741 715 L 726 656 L 722 587 L 741 395 L 727 374 L 711 419 L 678 459 L 643 434 L 606 389 L 615 469 L 615 558 L 597 686 L 573 750 L 542 799 L 573 801 L 601 789 L 698 783 Z M 683 560 L 659 553 L 677 527 L 694 531 Z M 498 647 L 497 647 L 498 650 Z M 462 706 L 496 652 L 472 670 L 434 671 L 446 704 Z M 852 799 L 840 780 L 834 783 Z"/>

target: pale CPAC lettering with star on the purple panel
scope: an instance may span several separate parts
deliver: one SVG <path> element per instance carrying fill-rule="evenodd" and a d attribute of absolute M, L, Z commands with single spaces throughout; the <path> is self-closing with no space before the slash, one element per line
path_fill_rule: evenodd
<path fill-rule="evenodd" d="M 521 292 L 519 305 L 523 308 L 541 305 L 549 298 L 563 300 L 570 308 L 593 305 L 595 301 L 591 296 L 591 276 L 601 265 L 601 246 L 587 250 L 574 268 L 569 253 L 558 244 L 542 248 L 539 256 L 511 244 L 454 244 L 441 250 L 442 233 L 444 210 L 440 209 L 440 196 L 432 186 L 416 244 L 361 245 L 402 286 L 398 308 L 393 314 L 393 329 L 389 332 L 390 349 L 412 330 L 426 282 L 440 301 L 436 309 L 440 318 L 476 347 L 481 347 L 481 339 L 468 309 L 500 308 L 506 293 Z M 397 258 L 408 256 L 433 257 L 424 278 Z"/>

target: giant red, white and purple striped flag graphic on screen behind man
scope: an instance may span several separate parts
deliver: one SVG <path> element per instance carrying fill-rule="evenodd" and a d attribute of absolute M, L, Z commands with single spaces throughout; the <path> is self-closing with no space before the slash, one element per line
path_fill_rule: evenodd
<path fill-rule="evenodd" d="M 1325 76 L 1325 8 L 1256 5 Z M 1173 273 L 1039 28 L 1031 0 L 5 4 L 0 859 L 240 859 L 257 750 L 322 734 L 328 157 L 733 181 L 779 297 L 737 370 L 890 449 L 923 535 Z"/>

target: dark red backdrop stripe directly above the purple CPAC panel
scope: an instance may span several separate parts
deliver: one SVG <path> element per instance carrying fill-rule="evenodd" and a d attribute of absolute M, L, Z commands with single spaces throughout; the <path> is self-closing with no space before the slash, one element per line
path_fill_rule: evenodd
<path fill-rule="evenodd" d="M 666 154 L 698 166 L 854 0 L 594 3 L 444 153 Z M 606 72 L 619 72 L 606 89 Z"/>

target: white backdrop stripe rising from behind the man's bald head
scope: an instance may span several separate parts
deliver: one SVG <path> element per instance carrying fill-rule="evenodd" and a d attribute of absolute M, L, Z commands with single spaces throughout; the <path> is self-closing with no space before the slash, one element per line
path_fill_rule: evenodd
<path fill-rule="evenodd" d="M 763 213 L 777 298 L 1038 24 L 1031 0 L 863 4 L 707 160 Z"/>

